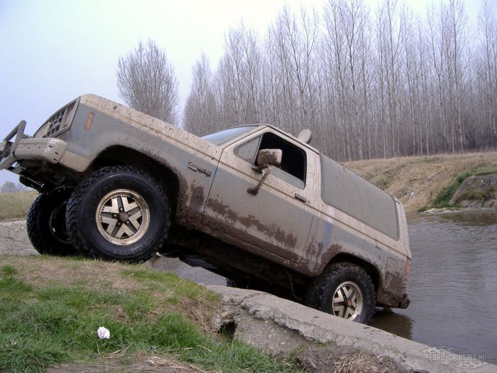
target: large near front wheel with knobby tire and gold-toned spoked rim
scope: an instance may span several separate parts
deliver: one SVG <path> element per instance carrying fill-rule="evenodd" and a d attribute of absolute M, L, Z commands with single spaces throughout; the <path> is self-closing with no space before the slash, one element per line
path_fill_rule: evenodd
<path fill-rule="evenodd" d="M 138 208 L 141 209 L 143 226 L 139 225 L 136 230 L 135 241 L 132 235 L 126 236 L 127 239 L 113 236 L 114 233 L 105 235 L 102 225 L 104 208 L 114 208 L 114 204 L 102 206 L 108 196 L 108 201 L 120 198 L 122 205 L 124 199 L 119 193 L 127 193 L 135 198 L 134 202 L 141 202 Z M 129 221 L 121 222 L 121 213 L 115 215 L 119 215 L 117 225 L 129 224 Z M 170 206 L 161 186 L 147 173 L 130 166 L 109 166 L 77 185 L 67 202 L 66 224 L 72 242 L 85 254 L 93 258 L 141 262 L 150 259 L 162 247 L 170 227 Z M 116 228 L 107 227 L 108 231 L 116 232 Z"/>

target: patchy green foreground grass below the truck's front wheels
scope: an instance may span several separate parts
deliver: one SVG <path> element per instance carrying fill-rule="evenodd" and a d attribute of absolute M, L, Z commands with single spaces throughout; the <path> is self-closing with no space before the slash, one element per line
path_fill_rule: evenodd
<path fill-rule="evenodd" d="M 222 372 L 297 370 L 209 330 L 219 297 L 174 274 L 46 256 L 1 262 L 0 371 L 44 372 L 116 352 Z M 99 326 L 110 330 L 109 340 L 97 338 Z"/>

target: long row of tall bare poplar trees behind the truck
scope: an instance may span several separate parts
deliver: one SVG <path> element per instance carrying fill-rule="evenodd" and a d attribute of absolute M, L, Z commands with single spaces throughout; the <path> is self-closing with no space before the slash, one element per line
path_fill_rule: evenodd
<path fill-rule="evenodd" d="M 253 123 L 294 135 L 309 128 L 311 144 L 340 161 L 497 145 L 489 1 L 474 23 L 462 0 L 422 16 L 395 0 L 283 8 L 263 35 L 243 24 L 228 31 L 215 70 L 202 55 L 192 74 L 181 120 L 169 121 L 200 136 Z"/>

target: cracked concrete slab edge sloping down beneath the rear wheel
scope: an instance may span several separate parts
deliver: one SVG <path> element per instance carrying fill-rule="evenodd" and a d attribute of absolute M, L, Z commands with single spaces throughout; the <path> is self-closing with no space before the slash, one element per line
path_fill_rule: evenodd
<path fill-rule="evenodd" d="M 467 359 L 466 365 L 458 367 L 457 362 L 461 361 L 458 355 L 368 325 L 337 318 L 268 293 L 216 285 L 207 288 L 219 293 L 227 306 L 245 310 L 256 319 L 273 321 L 302 335 L 306 340 L 390 357 L 411 372 L 467 372 L 468 364 L 472 365 L 471 372 L 475 373 L 497 371 L 495 365 L 479 360 Z"/>

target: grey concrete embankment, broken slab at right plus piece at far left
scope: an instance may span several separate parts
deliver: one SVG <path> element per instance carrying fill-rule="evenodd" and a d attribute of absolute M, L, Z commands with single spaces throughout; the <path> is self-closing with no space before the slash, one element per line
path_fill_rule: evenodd
<path fill-rule="evenodd" d="M 0 254 L 37 254 L 28 240 L 26 222 L 0 223 Z M 207 287 L 223 298 L 223 307 L 214 317 L 214 328 L 224 328 L 234 339 L 271 355 L 298 350 L 301 364 L 311 372 L 333 371 L 337 360 L 353 355 L 361 356 L 363 361 L 371 357 L 367 364 L 384 364 L 388 360 L 388 369 L 378 371 L 467 372 L 471 368 L 475 373 L 497 372 L 495 365 L 469 356 L 422 345 L 267 293 Z"/>

